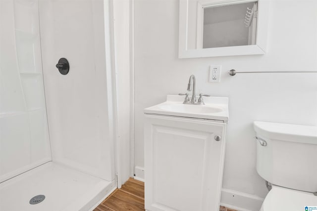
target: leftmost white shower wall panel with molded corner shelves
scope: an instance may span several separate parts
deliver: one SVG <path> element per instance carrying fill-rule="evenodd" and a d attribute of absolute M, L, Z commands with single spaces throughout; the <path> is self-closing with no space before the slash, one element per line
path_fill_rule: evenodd
<path fill-rule="evenodd" d="M 50 161 L 38 0 L 0 1 L 0 182 Z"/>

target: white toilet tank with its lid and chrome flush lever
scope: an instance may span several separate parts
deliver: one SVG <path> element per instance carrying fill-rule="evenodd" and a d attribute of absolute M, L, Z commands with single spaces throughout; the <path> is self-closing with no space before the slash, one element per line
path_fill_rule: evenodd
<path fill-rule="evenodd" d="M 317 192 L 317 127 L 255 121 L 254 130 L 262 178 L 274 185 Z"/>

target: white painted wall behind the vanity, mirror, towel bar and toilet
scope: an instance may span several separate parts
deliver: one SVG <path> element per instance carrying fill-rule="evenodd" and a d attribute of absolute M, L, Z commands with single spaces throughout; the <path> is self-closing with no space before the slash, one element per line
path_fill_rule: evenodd
<path fill-rule="evenodd" d="M 226 72 L 316 70 L 317 2 L 272 0 L 264 55 L 178 59 L 178 0 L 135 0 L 135 165 L 144 166 L 143 108 L 186 92 L 196 76 L 198 93 L 229 97 L 223 188 L 265 197 L 256 172 L 253 121 L 317 124 L 317 74 Z M 305 12 L 299 8 L 305 5 Z M 154 9 L 155 8 L 155 9 Z M 221 64 L 221 83 L 209 83 L 210 64 Z M 230 203 L 230 202 L 228 202 Z"/>

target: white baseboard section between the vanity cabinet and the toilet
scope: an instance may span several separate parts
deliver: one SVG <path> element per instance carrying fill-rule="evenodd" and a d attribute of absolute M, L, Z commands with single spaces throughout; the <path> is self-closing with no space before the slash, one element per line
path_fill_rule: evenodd
<path fill-rule="evenodd" d="M 237 211 L 260 211 L 264 199 L 222 188 L 220 205 Z"/>

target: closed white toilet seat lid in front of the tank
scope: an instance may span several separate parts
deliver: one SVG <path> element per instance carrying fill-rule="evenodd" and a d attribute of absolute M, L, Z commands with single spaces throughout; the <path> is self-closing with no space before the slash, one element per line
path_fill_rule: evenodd
<path fill-rule="evenodd" d="M 317 196 L 273 185 L 261 211 L 305 211 L 306 206 L 317 207 Z"/>

